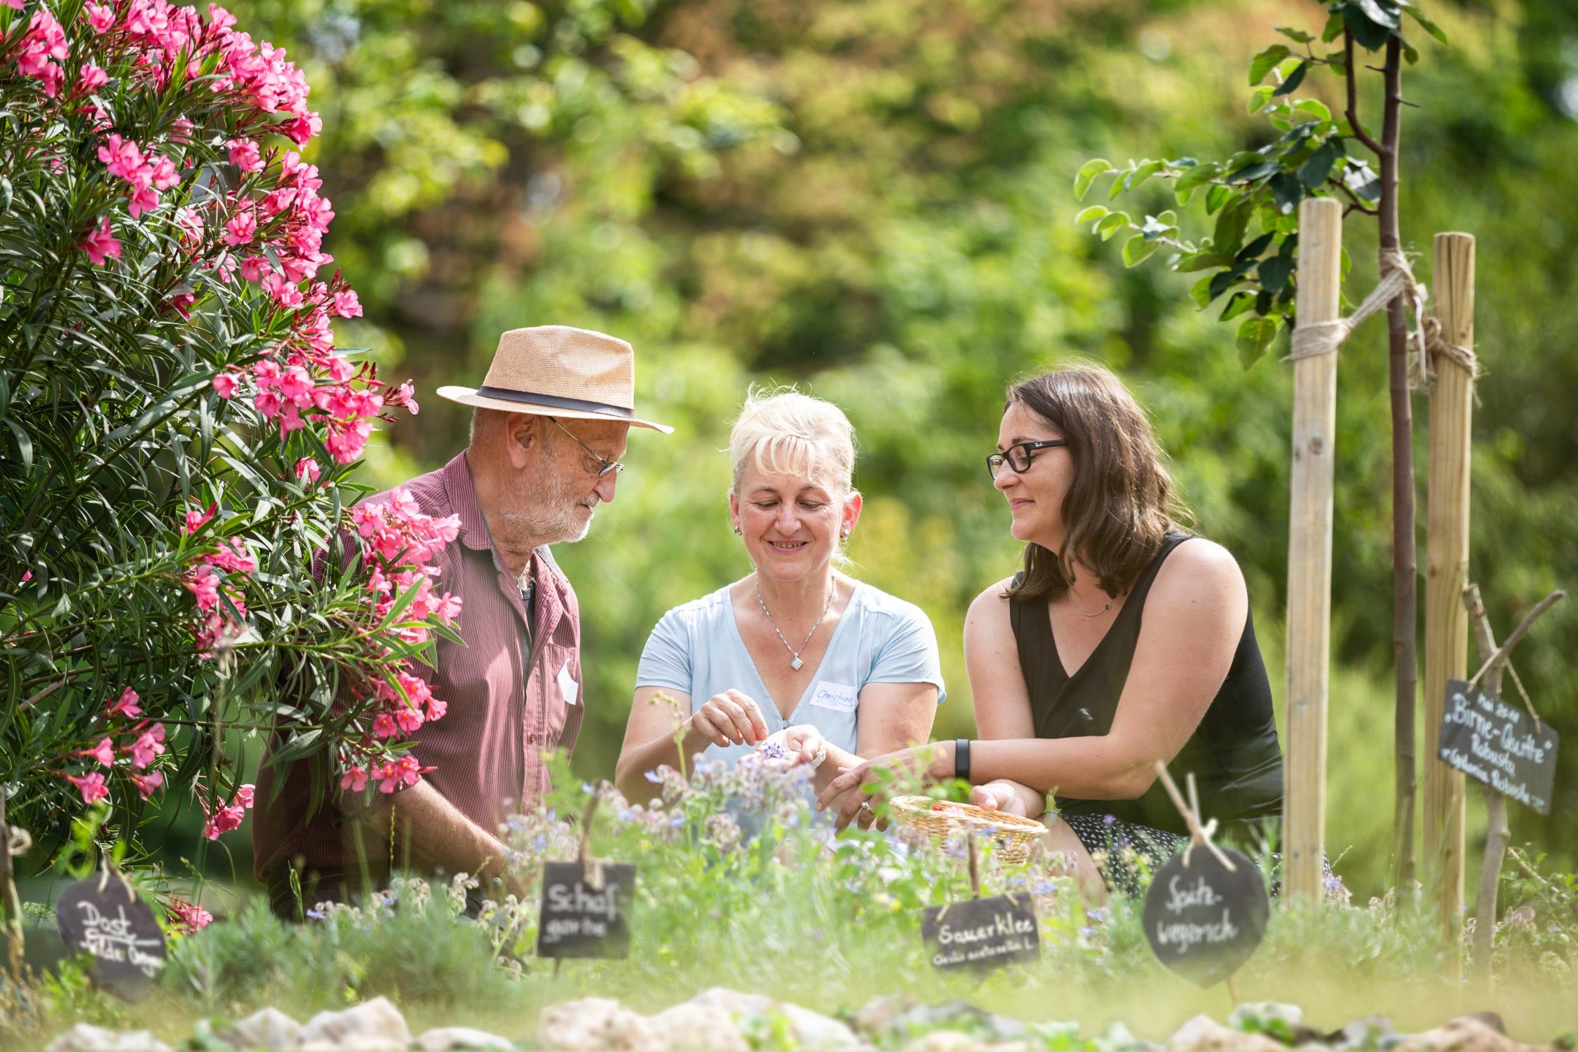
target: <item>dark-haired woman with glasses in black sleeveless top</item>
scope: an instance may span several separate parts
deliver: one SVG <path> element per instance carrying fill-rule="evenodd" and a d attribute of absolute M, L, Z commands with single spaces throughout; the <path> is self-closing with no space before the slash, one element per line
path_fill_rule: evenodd
<path fill-rule="evenodd" d="M 964 658 L 977 741 L 928 746 L 926 776 L 964 778 L 986 808 L 1040 817 L 1089 886 L 1135 891 L 1135 856 L 1187 844 L 1157 781 L 1195 774 L 1231 839 L 1281 814 L 1283 768 L 1248 593 L 1226 549 L 1190 536 L 1150 423 L 1111 372 L 1079 366 L 1008 388 L 988 457 L 1024 569 L 970 604 Z M 873 765 L 822 793 L 869 814 Z"/>

